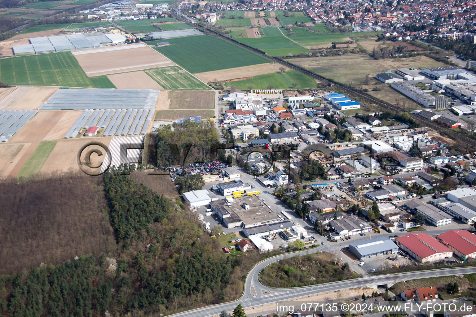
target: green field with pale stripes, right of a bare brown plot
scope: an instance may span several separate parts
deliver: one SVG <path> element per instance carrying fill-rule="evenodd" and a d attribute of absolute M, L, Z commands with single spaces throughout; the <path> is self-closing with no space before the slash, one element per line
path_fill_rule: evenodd
<path fill-rule="evenodd" d="M 148 69 L 145 73 L 164 89 L 210 89 L 198 78 L 178 66 Z"/>

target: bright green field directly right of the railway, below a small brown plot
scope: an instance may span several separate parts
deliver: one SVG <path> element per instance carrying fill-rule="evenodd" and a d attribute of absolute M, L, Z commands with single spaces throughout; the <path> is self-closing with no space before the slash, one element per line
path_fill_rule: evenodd
<path fill-rule="evenodd" d="M 307 48 L 296 44 L 284 36 L 270 36 L 264 38 L 239 38 L 237 41 L 254 48 L 259 48 L 271 56 L 287 56 L 299 52 L 310 52 Z"/>

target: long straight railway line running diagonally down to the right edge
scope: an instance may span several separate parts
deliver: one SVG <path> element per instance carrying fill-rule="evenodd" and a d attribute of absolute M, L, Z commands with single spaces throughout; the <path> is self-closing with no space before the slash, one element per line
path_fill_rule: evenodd
<path fill-rule="evenodd" d="M 325 84 L 327 84 L 327 83 L 333 83 L 334 86 L 339 87 L 339 89 L 342 89 L 342 90 L 347 91 L 347 92 L 349 92 L 349 93 L 351 93 L 351 94 L 354 94 L 355 96 L 358 96 L 358 97 L 360 97 L 360 98 L 363 98 L 363 99 L 367 100 L 368 102 L 371 102 L 371 103 L 373 103 L 373 104 L 375 104 L 375 105 L 377 105 L 377 106 L 380 106 L 381 108 L 390 110 L 390 111 L 395 112 L 395 113 L 404 112 L 404 109 L 401 109 L 401 108 L 399 108 L 399 107 L 397 107 L 397 106 L 395 106 L 395 105 L 387 104 L 387 103 L 385 103 L 385 102 L 381 102 L 381 101 L 379 101 L 379 100 L 377 100 L 377 99 L 374 99 L 374 98 L 372 98 L 372 97 L 370 97 L 370 96 L 368 96 L 368 95 L 366 95 L 366 94 L 363 94 L 363 93 L 361 93 L 361 92 L 359 92 L 359 91 L 356 91 L 356 90 L 353 90 L 353 89 L 348 88 L 348 87 L 346 87 L 346 86 L 342 86 L 342 85 L 340 85 L 340 84 L 337 84 L 337 83 L 335 83 L 335 82 L 333 82 L 333 81 L 328 80 L 327 78 L 317 76 L 317 75 L 314 74 L 314 73 L 311 73 L 311 72 L 309 72 L 309 71 L 307 71 L 307 70 L 305 70 L 305 69 L 303 69 L 303 68 L 301 68 L 301 67 L 294 66 L 294 65 L 292 65 L 292 64 L 290 64 L 290 63 L 288 63 L 288 62 L 286 62 L 286 61 L 284 61 L 284 60 L 282 60 L 282 59 L 278 59 L 278 58 L 269 56 L 268 54 L 263 53 L 263 52 L 261 52 L 261 51 L 255 49 L 255 48 L 250 48 L 249 46 L 246 46 L 246 45 L 244 45 L 244 44 L 242 44 L 242 43 L 240 43 L 240 42 L 238 42 L 238 41 L 235 41 L 235 40 L 233 40 L 233 39 L 231 39 L 231 38 L 227 38 L 227 37 L 225 37 L 225 36 L 223 36 L 223 35 L 220 35 L 220 34 L 216 33 L 215 31 L 213 31 L 213 30 L 211 30 L 211 29 L 207 29 L 207 28 L 201 27 L 201 26 L 199 26 L 199 25 L 196 25 L 196 24 L 190 22 L 188 19 L 184 19 L 184 18 L 182 18 L 179 14 L 175 13 L 175 6 L 176 6 L 176 4 L 174 4 L 174 5 L 171 7 L 171 12 L 172 12 L 171 14 L 172 14 L 172 16 L 173 16 L 175 19 L 178 19 L 178 20 L 180 20 L 180 21 L 182 21 L 182 22 L 187 23 L 188 25 L 193 26 L 194 28 L 201 29 L 202 31 L 205 31 L 205 32 L 213 33 L 213 36 L 216 36 L 216 37 L 218 37 L 218 38 L 222 38 L 222 39 L 224 39 L 224 40 L 227 40 L 228 42 L 232 42 L 233 44 L 236 44 L 236 45 L 238 45 L 238 46 L 240 46 L 240 47 L 242 47 L 242 48 L 246 48 L 246 49 L 248 49 L 248 50 L 250 50 L 250 51 L 252 51 L 252 52 L 254 52 L 254 53 L 257 53 L 257 54 L 259 54 L 259 55 L 261 55 L 261 56 L 263 56 L 263 57 L 266 57 L 266 58 L 268 58 L 268 59 L 271 59 L 272 61 L 274 61 L 274 62 L 276 62 L 276 63 L 279 63 L 279 64 L 281 64 L 281 65 L 283 65 L 283 66 L 287 66 L 287 67 L 289 67 L 289 68 L 291 68 L 291 69 L 297 70 L 298 72 L 300 72 L 300 73 L 302 73 L 302 74 L 305 74 L 305 75 L 307 75 L 307 76 L 309 76 L 309 77 L 315 78 L 315 79 L 317 79 L 317 80 L 319 80 L 319 81 L 321 81 L 321 82 L 323 82 L 323 83 L 325 83 Z M 476 141 L 473 140 L 473 139 L 471 139 L 471 138 L 468 138 L 468 137 L 463 136 L 463 135 L 461 135 L 461 134 L 456 134 L 454 131 L 451 131 L 451 129 L 446 128 L 446 127 L 443 127 L 443 126 L 441 126 L 441 125 L 436 125 L 435 123 L 431 122 L 430 120 L 426 120 L 426 119 L 420 117 L 419 115 L 410 113 L 410 116 L 411 116 L 413 119 L 415 119 L 415 121 L 417 121 L 418 123 L 420 123 L 420 124 L 422 124 L 422 125 L 424 125 L 424 126 L 430 127 L 430 128 L 432 128 L 432 129 L 434 129 L 434 130 L 436 130 L 436 131 L 444 132 L 446 135 L 450 136 L 451 138 L 453 138 L 453 139 L 455 139 L 455 140 L 464 141 L 464 142 L 467 142 L 468 144 L 471 144 L 471 145 L 473 145 L 473 146 L 476 146 Z"/>

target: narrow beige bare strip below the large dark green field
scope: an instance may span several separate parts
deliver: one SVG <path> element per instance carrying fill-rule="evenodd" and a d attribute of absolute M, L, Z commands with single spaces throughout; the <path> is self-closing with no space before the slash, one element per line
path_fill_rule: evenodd
<path fill-rule="evenodd" d="M 195 74 L 198 78 L 202 81 L 208 83 L 213 81 L 214 79 L 217 80 L 230 80 L 235 78 L 243 78 L 243 77 L 252 77 L 256 75 L 264 75 L 273 72 L 278 72 L 279 67 L 282 67 L 280 64 L 258 64 L 258 65 L 250 65 L 250 66 L 243 66 L 243 67 L 235 67 L 235 68 L 228 68 L 222 70 L 214 70 L 210 72 L 198 73 Z M 288 67 L 285 67 L 288 70 Z"/>

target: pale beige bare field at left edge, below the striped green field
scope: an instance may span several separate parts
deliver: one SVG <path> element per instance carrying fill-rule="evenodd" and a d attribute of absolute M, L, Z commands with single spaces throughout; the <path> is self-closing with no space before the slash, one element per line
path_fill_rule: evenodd
<path fill-rule="evenodd" d="M 56 90 L 58 87 L 18 86 L 10 94 L 0 99 L 0 109 L 38 109 Z"/>

